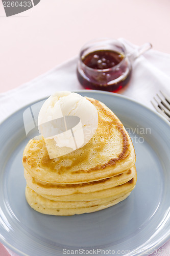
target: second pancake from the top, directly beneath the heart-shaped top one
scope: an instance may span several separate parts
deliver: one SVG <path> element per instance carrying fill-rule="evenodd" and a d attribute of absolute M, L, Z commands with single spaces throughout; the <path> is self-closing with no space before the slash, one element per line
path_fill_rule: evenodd
<path fill-rule="evenodd" d="M 95 191 L 115 187 L 122 185 L 129 180 L 131 180 L 135 175 L 135 166 L 130 170 L 127 170 L 123 174 L 113 176 L 111 178 L 91 181 L 80 184 L 58 184 L 58 183 L 47 183 L 41 182 L 34 177 L 32 177 L 27 170 L 24 170 L 24 176 L 29 187 L 31 187 L 39 195 L 49 195 L 49 196 L 67 196 L 76 193 L 92 193 Z"/>

